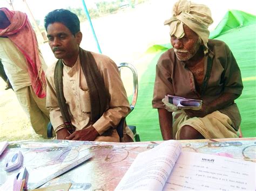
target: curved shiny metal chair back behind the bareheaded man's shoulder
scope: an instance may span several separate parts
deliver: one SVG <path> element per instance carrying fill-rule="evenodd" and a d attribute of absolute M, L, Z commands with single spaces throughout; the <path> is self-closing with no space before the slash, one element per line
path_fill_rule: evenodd
<path fill-rule="evenodd" d="M 132 72 L 132 77 L 133 77 L 133 92 L 132 92 L 132 100 L 130 103 L 131 111 L 134 109 L 136 102 L 137 102 L 137 97 L 138 97 L 138 74 L 136 68 L 131 64 L 131 63 L 120 63 L 118 66 L 119 72 L 121 71 L 121 68 L 126 67 L 129 68 Z"/>

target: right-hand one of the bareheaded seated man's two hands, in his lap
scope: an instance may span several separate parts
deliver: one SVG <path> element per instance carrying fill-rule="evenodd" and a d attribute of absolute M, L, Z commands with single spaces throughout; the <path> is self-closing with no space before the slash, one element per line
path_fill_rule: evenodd
<path fill-rule="evenodd" d="M 66 137 L 68 140 L 95 140 L 99 136 L 98 131 L 96 131 L 93 126 L 87 129 L 82 129 L 73 132 L 70 136 Z"/>

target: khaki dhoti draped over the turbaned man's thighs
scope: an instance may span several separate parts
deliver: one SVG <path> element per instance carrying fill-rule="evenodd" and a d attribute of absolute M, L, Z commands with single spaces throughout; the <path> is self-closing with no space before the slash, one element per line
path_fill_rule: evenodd
<path fill-rule="evenodd" d="M 176 111 L 173 115 L 173 136 L 180 139 L 180 131 L 184 125 L 192 126 L 206 139 L 216 138 L 237 138 L 238 132 L 235 131 L 231 124 L 231 119 L 221 113 L 214 111 L 205 117 L 188 117 L 185 111 Z"/>

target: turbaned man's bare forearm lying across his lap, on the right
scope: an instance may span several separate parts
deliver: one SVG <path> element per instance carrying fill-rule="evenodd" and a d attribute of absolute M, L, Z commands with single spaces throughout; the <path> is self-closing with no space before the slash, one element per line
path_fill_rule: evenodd
<path fill-rule="evenodd" d="M 211 114 L 213 111 L 223 109 L 227 105 L 232 104 L 233 101 L 238 97 L 239 95 L 237 94 L 224 93 L 207 105 L 203 103 L 200 110 L 186 109 L 185 112 L 189 117 L 204 117 L 208 114 Z"/>

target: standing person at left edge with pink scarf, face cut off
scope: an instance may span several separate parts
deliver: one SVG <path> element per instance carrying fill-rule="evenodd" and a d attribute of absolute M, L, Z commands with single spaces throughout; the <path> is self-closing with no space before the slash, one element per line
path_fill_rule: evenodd
<path fill-rule="evenodd" d="M 46 109 L 47 68 L 38 49 L 28 17 L 19 11 L 0 8 L 0 58 L 6 76 L 36 133 L 46 138 L 49 111 Z"/>

